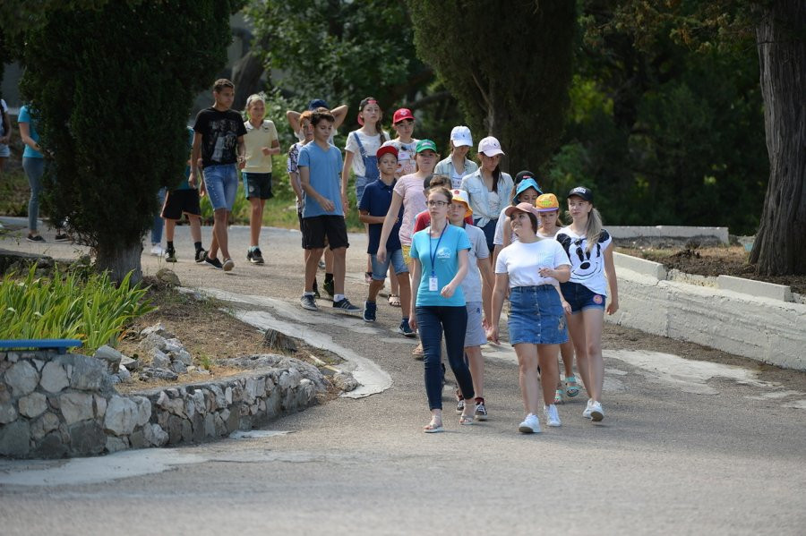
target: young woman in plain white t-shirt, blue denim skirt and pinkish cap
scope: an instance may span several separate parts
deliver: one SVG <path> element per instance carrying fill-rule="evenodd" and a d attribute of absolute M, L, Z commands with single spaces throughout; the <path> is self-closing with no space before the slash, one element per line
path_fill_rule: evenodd
<path fill-rule="evenodd" d="M 560 344 L 568 340 L 563 311 L 565 306 L 558 282 L 570 277 L 570 262 L 559 243 L 537 236 L 539 213 L 530 203 L 507 209 L 518 242 L 504 248 L 495 262 L 493 322 L 489 338 L 499 341 L 498 324 L 507 290 L 510 313 L 507 327 L 510 345 L 515 347 L 520 370 L 520 388 L 527 416 L 519 424 L 523 433 L 540 431 L 537 419 L 539 385 L 543 386 L 543 413 L 548 426 L 560 426 L 554 405 L 554 388 L 559 371 Z M 537 367 L 540 367 L 538 380 Z"/>

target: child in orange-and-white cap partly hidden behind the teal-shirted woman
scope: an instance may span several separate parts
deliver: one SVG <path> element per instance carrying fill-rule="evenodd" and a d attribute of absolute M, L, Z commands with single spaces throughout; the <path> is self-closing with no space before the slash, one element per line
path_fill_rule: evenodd
<path fill-rule="evenodd" d="M 484 286 L 493 288 L 493 267 L 488 258 L 490 250 L 487 249 L 487 242 L 484 232 L 476 225 L 467 225 L 465 218 L 473 215 L 470 203 L 467 202 L 467 192 L 464 190 L 451 190 L 453 200 L 448 206 L 448 221 L 450 225 L 456 225 L 465 229 L 467 238 L 470 239 L 470 250 L 467 252 L 467 276 L 462 279 L 462 291 L 465 293 L 467 307 L 467 330 L 465 331 L 465 355 L 467 363 L 470 365 L 470 375 L 473 377 L 473 390 L 476 391 L 474 400 L 474 417 L 476 421 L 487 420 L 487 407 L 484 404 L 484 356 L 481 353 L 481 345 L 487 343 L 487 336 L 484 332 L 484 319 L 492 318 L 490 301 L 482 300 L 482 282 Z M 459 392 L 461 395 L 461 392 Z M 459 401 L 456 406 L 457 413 L 464 413 L 465 398 L 458 396 Z"/>

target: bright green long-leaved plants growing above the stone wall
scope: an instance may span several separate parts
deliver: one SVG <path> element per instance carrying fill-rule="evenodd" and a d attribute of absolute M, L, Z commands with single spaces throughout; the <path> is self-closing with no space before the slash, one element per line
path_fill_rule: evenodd
<path fill-rule="evenodd" d="M 74 338 L 94 353 L 117 344 L 124 327 L 153 311 L 143 300 L 146 289 L 130 285 L 131 273 L 113 285 L 107 273 L 82 281 L 79 272 L 37 277 L 7 274 L 0 284 L 0 339 Z"/>

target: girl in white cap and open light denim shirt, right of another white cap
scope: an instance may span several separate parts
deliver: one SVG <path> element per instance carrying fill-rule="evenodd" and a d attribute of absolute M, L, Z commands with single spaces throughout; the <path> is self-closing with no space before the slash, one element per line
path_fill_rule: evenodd
<path fill-rule="evenodd" d="M 484 231 L 487 248 L 493 251 L 495 224 L 502 208 L 510 204 L 514 184 L 510 174 L 501 171 L 501 143 L 488 136 L 478 142 L 478 159 L 481 166 L 462 179 L 462 190 L 467 191 L 473 221 Z"/>

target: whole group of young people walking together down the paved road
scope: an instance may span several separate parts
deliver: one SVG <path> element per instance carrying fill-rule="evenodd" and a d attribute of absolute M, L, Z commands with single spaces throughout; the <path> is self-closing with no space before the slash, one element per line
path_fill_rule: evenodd
<path fill-rule="evenodd" d="M 274 124 L 263 117 L 262 98 L 249 98 L 244 123 L 229 109 L 233 95 L 231 82 L 216 82 L 215 106 L 202 110 L 193 126 L 187 184 L 168 193 L 163 209 L 169 219 L 201 213 L 198 193 L 191 193 L 201 161 L 202 188 L 210 195 L 215 224 L 210 251 L 196 242 L 196 261 L 224 270 L 234 266 L 227 248 L 227 218 L 236 195 L 236 167 L 244 170 L 244 189 L 252 204 L 247 259 L 262 263 L 262 205 L 271 194 L 270 156 L 280 150 Z M 492 136 L 479 141 L 476 163 L 467 157 L 473 147 L 470 130 L 457 126 L 450 133 L 450 154 L 440 160 L 433 140 L 414 138 L 410 110 L 394 113 L 391 126 L 397 137 L 391 138 L 382 130 L 378 101 L 368 97 L 359 104 L 361 128 L 348 134 L 342 157 L 333 135 L 347 106 L 329 110 L 323 101 L 312 101 L 309 108 L 287 114 L 299 138 L 288 151 L 287 173 L 302 231 L 302 307 L 319 309 L 316 273 L 322 256 L 323 289 L 332 307 L 361 312 L 366 322 L 376 321 L 377 298 L 389 277 L 390 305 L 400 307 L 398 331 L 420 339 L 415 354 L 424 360 L 431 411 L 424 431 L 433 433 L 443 430 L 443 336 L 458 384 L 459 424 L 488 418 L 481 347 L 500 342 L 503 304 L 509 301 L 507 328 L 518 356 L 526 413 L 518 429 L 539 432 L 540 413 L 547 426 L 561 425 L 557 404 L 580 390 L 574 356 L 588 396 L 582 415 L 604 419 L 602 326 L 605 311 L 618 310 L 618 285 L 613 242 L 602 228 L 593 192 L 584 186 L 568 192 L 570 224 L 563 226 L 559 200 L 541 190 L 534 174 L 521 171 L 513 180 L 501 170 L 504 151 Z M 356 177 L 356 209 L 368 235 L 364 277 L 369 289 L 363 308 L 345 294 L 351 174 Z M 195 226 L 192 231 L 196 241 Z M 168 242 L 168 255 L 172 251 Z"/>

